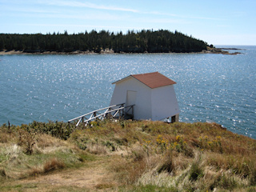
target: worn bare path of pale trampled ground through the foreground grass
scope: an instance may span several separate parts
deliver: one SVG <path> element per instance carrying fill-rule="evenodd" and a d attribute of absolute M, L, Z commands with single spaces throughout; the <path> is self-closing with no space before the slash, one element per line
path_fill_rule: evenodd
<path fill-rule="evenodd" d="M 38 184 L 38 186 L 74 186 L 86 190 L 106 190 L 118 184 L 108 169 L 109 159 L 90 162 L 90 166 L 82 166 L 76 170 L 62 170 L 58 173 L 38 175 L 18 181 L 20 184 Z M 40 189 L 36 189 L 40 190 Z"/>

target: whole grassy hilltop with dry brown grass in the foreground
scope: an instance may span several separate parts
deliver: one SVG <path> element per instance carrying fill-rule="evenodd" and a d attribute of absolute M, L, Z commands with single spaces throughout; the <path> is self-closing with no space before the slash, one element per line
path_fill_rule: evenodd
<path fill-rule="evenodd" d="M 1 191 L 255 191 L 256 141 L 216 123 L 0 127 Z"/>

